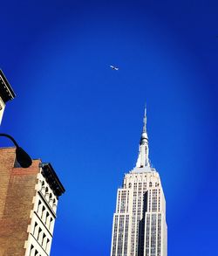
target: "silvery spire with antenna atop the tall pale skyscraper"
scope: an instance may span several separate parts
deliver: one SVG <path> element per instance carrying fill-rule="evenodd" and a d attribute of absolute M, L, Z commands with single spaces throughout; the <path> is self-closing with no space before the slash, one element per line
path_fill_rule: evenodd
<path fill-rule="evenodd" d="M 140 136 L 140 149 L 139 156 L 136 163 L 137 168 L 149 167 L 149 159 L 148 159 L 148 136 L 146 133 L 146 107 L 145 107 L 145 115 L 144 115 L 144 125 L 142 129 L 142 134 Z"/>

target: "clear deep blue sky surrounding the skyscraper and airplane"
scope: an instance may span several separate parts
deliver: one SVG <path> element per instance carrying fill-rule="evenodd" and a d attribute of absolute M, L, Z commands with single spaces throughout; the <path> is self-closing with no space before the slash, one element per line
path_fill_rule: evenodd
<path fill-rule="evenodd" d="M 145 102 L 168 256 L 215 256 L 218 3 L 4 1 L 1 10 L 0 67 L 17 93 L 1 132 L 50 162 L 66 189 L 51 256 L 109 255 Z"/>

